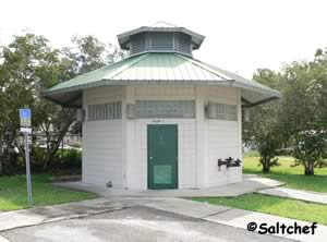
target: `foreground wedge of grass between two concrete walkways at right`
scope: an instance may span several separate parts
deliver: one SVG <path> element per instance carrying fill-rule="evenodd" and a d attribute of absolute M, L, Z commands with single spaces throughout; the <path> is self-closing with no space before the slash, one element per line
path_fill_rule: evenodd
<path fill-rule="evenodd" d="M 305 203 L 261 194 L 242 195 L 231 198 L 198 197 L 193 199 L 327 225 L 327 206 L 320 204 Z"/>

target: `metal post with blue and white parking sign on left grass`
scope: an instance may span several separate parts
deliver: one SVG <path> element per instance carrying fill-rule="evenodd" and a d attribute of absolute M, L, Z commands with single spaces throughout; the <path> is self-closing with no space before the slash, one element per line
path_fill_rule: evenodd
<path fill-rule="evenodd" d="M 29 147 L 28 147 L 28 134 L 32 133 L 31 117 L 32 117 L 31 109 L 20 109 L 21 132 L 24 133 L 24 143 L 25 143 L 26 183 L 27 183 L 27 197 L 28 197 L 28 206 L 29 207 L 33 206 L 31 165 L 29 165 Z"/>

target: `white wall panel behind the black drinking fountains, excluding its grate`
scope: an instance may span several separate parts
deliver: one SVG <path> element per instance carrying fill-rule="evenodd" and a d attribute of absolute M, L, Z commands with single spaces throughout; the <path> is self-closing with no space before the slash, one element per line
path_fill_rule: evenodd
<path fill-rule="evenodd" d="M 218 158 L 232 157 L 242 160 L 242 137 L 241 137 L 241 95 L 237 88 L 206 89 L 207 101 L 238 105 L 238 121 L 208 119 L 207 129 L 207 166 L 206 186 L 217 186 L 226 183 L 240 182 L 242 180 L 242 168 L 221 166 L 218 169 Z"/>

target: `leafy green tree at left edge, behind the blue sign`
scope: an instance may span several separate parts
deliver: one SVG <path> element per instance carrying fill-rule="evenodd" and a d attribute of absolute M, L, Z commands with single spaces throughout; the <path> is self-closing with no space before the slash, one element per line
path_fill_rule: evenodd
<path fill-rule="evenodd" d="M 11 172 L 16 165 L 19 144 L 19 109 L 29 107 L 37 110 L 37 87 L 47 75 L 47 82 L 56 81 L 58 51 L 47 45 L 43 36 L 25 34 L 15 36 L 8 46 L 2 47 L 0 65 L 0 140 L 3 153 L 0 157 L 1 172 Z M 37 128 L 41 119 L 33 116 L 33 126 Z M 22 152 L 22 150 L 21 150 Z"/>

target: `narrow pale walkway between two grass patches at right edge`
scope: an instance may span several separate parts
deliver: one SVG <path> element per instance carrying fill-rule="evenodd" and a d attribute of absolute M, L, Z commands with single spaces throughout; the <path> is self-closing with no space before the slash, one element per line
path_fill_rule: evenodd
<path fill-rule="evenodd" d="M 274 187 L 274 189 L 265 189 L 258 191 L 257 193 L 271 195 L 271 196 L 292 198 L 292 199 L 302 199 L 305 202 L 327 205 L 327 194 L 316 193 L 311 191 L 302 191 L 302 190 L 287 189 L 287 187 Z"/>

